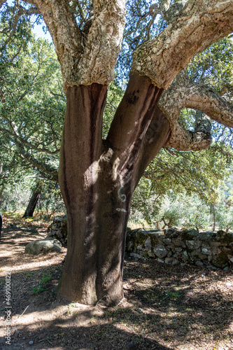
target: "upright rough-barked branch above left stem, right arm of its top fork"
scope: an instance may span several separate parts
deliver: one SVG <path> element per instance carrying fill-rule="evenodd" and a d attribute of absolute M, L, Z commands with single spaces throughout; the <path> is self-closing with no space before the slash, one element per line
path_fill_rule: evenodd
<path fill-rule="evenodd" d="M 125 0 L 96 0 L 93 6 L 94 17 L 76 69 L 76 83 L 108 85 L 115 76 L 115 64 L 121 50 Z"/>

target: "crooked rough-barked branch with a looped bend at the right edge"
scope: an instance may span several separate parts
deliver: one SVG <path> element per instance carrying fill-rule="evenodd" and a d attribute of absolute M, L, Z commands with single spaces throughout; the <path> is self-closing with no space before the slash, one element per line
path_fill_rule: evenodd
<path fill-rule="evenodd" d="M 178 124 L 181 109 L 202 111 L 218 123 L 233 127 L 232 104 L 213 89 L 190 81 L 184 71 L 176 76 L 169 90 L 162 94 L 159 106 L 171 125 L 172 133 L 167 146 L 179 151 L 200 151 L 209 147 L 211 143 L 210 123 L 207 117 L 202 116 L 196 123 L 195 132 L 191 132 Z"/>

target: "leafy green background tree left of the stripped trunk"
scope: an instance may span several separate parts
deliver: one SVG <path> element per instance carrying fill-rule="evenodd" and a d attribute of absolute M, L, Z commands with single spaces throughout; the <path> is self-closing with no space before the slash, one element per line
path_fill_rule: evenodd
<path fill-rule="evenodd" d="M 28 197 L 23 186 L 35 186 L 23 176 L 57 182 L 65 97 L 54 48 L 35 40 L 27 10 L 6 6 L 0 28 L 1 205 L 16 209 Z M 15 181 L 23 197 L 19 203 Z M 32 216 L 35 206 L 29 202 L 25 215 Z"/>

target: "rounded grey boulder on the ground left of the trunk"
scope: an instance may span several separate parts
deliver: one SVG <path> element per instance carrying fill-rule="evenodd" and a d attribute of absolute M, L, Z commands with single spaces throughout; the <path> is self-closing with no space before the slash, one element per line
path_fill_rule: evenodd
<path fill-rule="evenodd" d="M 37 255 L 39 253 L 48 253 L 49 251 L 62 251 L 62 244 L 57 239 L 36 239 L 31 241 L 25 247 L 24 253 Z"/>

